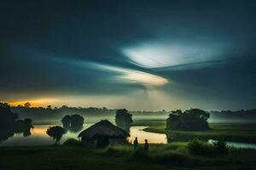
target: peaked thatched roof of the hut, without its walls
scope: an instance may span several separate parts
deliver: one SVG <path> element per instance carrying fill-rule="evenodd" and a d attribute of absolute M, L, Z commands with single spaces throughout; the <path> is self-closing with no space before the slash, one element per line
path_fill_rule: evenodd
<path fill-rule="evenodd" d="M 84 137 L 87 139 L 93 139 L 96 136 L 108 136 L 112 138 L 125 139 L 130 136 L 130 134 L 122 128 L 114 126 L 111 122 L 108 122 L 107 120 L 97 122 L 91 127 L 85 129 L 83 132 L 79 133 L 79 138 Z"/>

